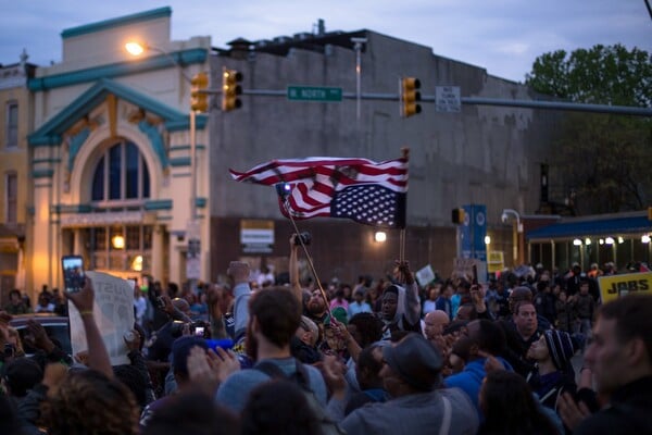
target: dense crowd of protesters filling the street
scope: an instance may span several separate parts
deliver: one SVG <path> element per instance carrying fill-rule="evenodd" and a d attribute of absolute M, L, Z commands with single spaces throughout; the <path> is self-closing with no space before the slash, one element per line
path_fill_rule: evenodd
<path fill-rule="evenodd" d="M 323 288 L 301 281 L 294 237 L 288 285 L 240 261 L 228 283 L 137 283 L 129 364 L 110 363 L 90 278 L 65 295 L 88 345 L 74 356 L 36 322 L 25 355 L 12 295 L 0 433 L 652 433 L 652 296 L 602 304 L 578 265 L 419 286 L 402 259 Z"/>

